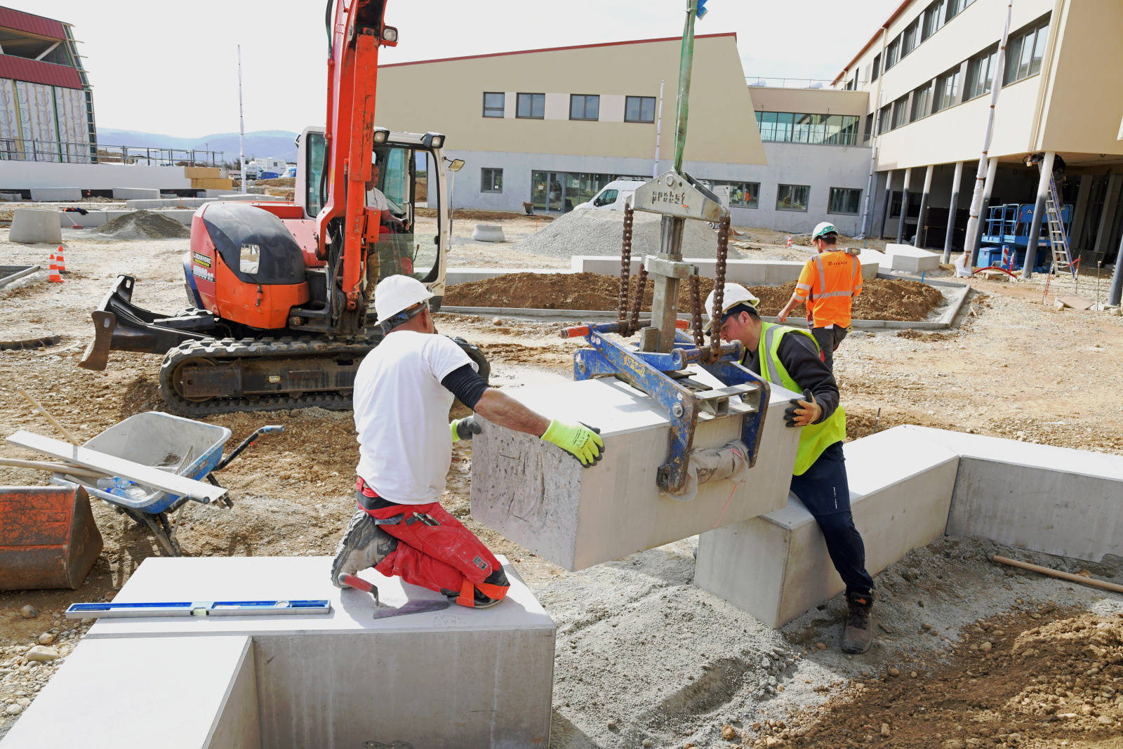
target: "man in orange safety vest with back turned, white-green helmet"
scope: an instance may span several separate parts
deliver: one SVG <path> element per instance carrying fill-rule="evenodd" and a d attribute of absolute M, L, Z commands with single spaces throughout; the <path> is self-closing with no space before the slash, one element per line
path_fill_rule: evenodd
<path fill-rule="evenodd" d="M 838 230 L 828 221 L 815 227 L 811 244 L 819 254 L 803 266 L 792 299 L 779 311 L 779 321 L 787 321 L 788 313 L 806 302 L 811 335 L 827 368 L 833 372 L 834 351 L 850 330 L 850 304 L 861 293 L 861 263 L 838 249 Z"/>

